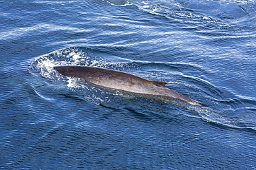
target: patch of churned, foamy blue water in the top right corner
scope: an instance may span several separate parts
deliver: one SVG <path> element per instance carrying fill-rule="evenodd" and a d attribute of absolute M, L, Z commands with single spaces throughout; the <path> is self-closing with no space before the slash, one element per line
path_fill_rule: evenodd
<path fill-rule="evenodd" d="M 255 29 L 255 1 L 183 1 L 183 0 L 103 0 L 113 6 L 136 6 L 149 14 L 170 19 L 172 23 L 187 24 L 185 29 L 199 27 L 218 30 Z"/>

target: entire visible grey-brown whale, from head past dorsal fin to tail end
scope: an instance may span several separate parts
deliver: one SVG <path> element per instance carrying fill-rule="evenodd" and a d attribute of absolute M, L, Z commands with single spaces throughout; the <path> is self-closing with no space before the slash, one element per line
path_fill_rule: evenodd
<path fill-rule="evenodd" d="M 134 94 L 143 94 L 145 96 L 157 96 L 170 100 L 171 103 L 185 107 L 185 105 L 203 106 L 190 98 L 165 87 L 163 81 L 148 81 L 144 78 L 131 74 L 107 70 L 98 67 L 87 66 L 55 66 L 57 72 L 67 77 L 83 78 L 88 83 L 119 89 Z"/>

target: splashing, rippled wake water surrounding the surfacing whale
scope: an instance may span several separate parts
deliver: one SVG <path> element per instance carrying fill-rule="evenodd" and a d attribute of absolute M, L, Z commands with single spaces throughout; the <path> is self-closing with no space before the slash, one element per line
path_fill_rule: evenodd
<path fill-rule="evenodd" d="M 184 104 L 181 106 L 195 111 L 195 113 L 188 114 L 188 112 L 181 110 L 181 114 L 194 118 L 201 118 L 207 122 L 224 125 L 226 127 L 256 130 L 256 102 L 254 100 L 240 100 L 237 98 L 221 100 L 219 98 L 221 98 L 223 92 L 217 87 L 214 87 L 214 85 L 207 81 L 203 81 L 200 78 L 192 76 L 187 77 L 185 74 L 178 73 L 180 70 L 188 68 L 196 69 L 196 65 L 132 61 L 86 47 L 70 47 L 58 50 L 37 57 L 30 64 L 30 73 L 34 76 L 37 75 L 37 81 L 51 80 L 48 84 L 50 86 L 51 83 L 55 83 L 55 85 L 57 84 L 58 88 L 62 89 L 61 92 L 65 92 L 64 89 L 66 89 L 67 86 L 68 89 L 71 89 L 68 90 L 69 93 L 79 91 L 75 94 L 79 96 L 82 92 L 82 98 L 84 100 L 100 105 L 101 107 L 106 107 L 107 109 L 120 109 L 120 105 L 130 105 L 135 107 L 127 107 L 126 110 L 132 113 L 136 113 L 136 109 L 138 109 L 136 106 L 139 106 L 153 111 L 154 113 L 165 113 L 165 115 L 170 112 L 170 104 L 167 100 L 155 100 L 155 98 L 148 98 L 147 96 L 141 98 L 141 96 L 123 93 L 118 90 L 113 91 L 98 88 L 84 83 L 84 81 L 81 81 L 79 78 L 66 78 L 53 69 L 53 66 L 55 65 L 103 67 L 131 73 L 142 78 L 153 78 L 152 81 L 167 81 L 170 83 L 170 86 L 172 86 L 172 89 L 183 89 L 183 91 L 180 90 L 181 94 L 185 93 L 185 96 L 190 95 L 192 99 L 198 100 L 199 103 L 200 100 L 202 100 L 201 98 L 205 98 L 205 101 L 201 102 L 201 104 L 206 105 L 207 107 Z M 164 72 L 162 66 L 164 67 Z M 152 72 L 152 70 L 154 70 L 154 72 Z M 197 68 L 196 70 L 205 72 L 205 70 L 203 71 L 203 68 Z M 148 73 L 150 73 L 150 75 Z M 174 74 L 175 76 L 178 75 L 179 81 L 174 81 L 176 78 L 172 77 Z M 172 81 L 170 81 L 170 79 Z M 190 84 L 188 85 L 188 82 L 185 82 L 184 80 L 190 81 Z M 40 89 L 37 89 L 40 88 L 40 85 L 33 88 L 35 89 L 35 92 L 40 91 Z M 44 94 L 40 95 L 43 96 Z M 66 94 L 66 96 L 73 95 Z M 232 97 L 231 94 L 230 96 Z M 75 98 L 81 99 L 81 96 Z M 152 102 L 152 100 L 154 100 L 154 102 Z M 171 103 L 175 104 L 173 101 Z M 143 114 L 143 117 L 147 117 L 147 115 Z"/>

